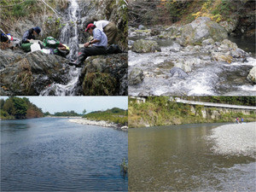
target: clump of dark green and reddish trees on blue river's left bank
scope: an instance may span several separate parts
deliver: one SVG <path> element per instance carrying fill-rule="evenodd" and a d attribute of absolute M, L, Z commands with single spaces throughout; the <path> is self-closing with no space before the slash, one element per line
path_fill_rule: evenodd
<path fill-rule="evenodd" d="M 44 114 L 41 108 L 29 102 L 26 97 L 9 97 L 7 100 L 0 100 L 1 119 L 27 119 L 27 118 L 39 118 Z"/>

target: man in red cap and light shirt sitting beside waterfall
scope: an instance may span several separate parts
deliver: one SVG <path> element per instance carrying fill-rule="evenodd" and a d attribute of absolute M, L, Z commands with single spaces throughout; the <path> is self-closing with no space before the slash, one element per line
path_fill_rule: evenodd
<path fill-rule="evenodd" d="M 86 27 L 85 32 L 90 32 L 90 35 L 93 35 L 93 39 L 84 44 L 84 48 L 79 51 L 78 59 L 76 61 L 70 61 L 69 65 L 81 67 L 88 56 L 107 54 L 108 38 L 106 34 L 96 28 L 92 23 Z M 89 47 L 90 44 L 91 47 Z"/>

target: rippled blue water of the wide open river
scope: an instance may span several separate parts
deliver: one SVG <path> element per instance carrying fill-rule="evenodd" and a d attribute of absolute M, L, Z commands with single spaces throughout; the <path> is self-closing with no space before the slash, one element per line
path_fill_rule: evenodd
<path fill-rule="evenodd" d="M 1 191 L 128 190 L 128 134 L 68 119 L 1 121 Z"/>

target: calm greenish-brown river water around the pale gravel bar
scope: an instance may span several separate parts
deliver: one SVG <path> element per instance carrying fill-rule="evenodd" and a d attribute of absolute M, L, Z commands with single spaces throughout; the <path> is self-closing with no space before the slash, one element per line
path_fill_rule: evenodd
<path fill-rule="evenodd" d="M 219 125 L 130 129 L 129 190 L 255 191 L 255 159 L 213 153 Z"/>

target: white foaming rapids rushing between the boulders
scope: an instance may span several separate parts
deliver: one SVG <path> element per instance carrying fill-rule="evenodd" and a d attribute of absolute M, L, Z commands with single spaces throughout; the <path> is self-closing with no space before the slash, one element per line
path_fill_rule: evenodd
<path fill-rule="evenodd" d="M 138 38 L 144 37 L 133 37 L 130 40 Z M 237 39 L 236 41 L 238 42 Z M 158 40 L 158 44 L 162 51 L 157 53 L 138 54 L 129 50 L 129 73 L 137 67 L 145 74 L 142 84 L 129 85 L 129 95 L 254 96 L 256 94 L 256 85 L 247 81 L 247 74 L 256 66 L 255 41 L 252 42 L 252 39 L 243 39 L 239 44 L 237 43 L 242 49 L 252 52 L 247 61 L 231 64 L 212 61 L 207 54 L 181 49 L 180 45 L 170 40 Z M 170 75 L 170 70 L 180 60 L 199 61 L 186 79 Z"/>

